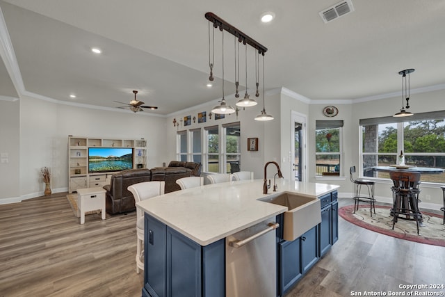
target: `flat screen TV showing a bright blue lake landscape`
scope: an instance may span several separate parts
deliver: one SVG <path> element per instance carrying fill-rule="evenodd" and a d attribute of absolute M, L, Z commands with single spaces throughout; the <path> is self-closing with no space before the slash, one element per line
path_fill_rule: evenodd
<path fill-rule="evenodd" d="M 133 149 L 129 147 L 89 147 L 88 172 L 111 172 L 133 168 Z"/>

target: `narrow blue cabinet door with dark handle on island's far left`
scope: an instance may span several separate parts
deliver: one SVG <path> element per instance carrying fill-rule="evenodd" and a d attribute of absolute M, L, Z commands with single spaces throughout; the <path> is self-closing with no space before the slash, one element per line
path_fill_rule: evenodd
<path fill-rule="evenodd" d="M 145 214 L 144 287 L 152 296 L 167 296 L 166 230 L 165 224 Z"/>

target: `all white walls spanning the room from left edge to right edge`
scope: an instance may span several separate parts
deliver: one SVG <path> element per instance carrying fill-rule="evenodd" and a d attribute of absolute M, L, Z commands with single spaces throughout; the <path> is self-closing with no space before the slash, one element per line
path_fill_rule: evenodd
<path fill-rule="evenodd" d="M 412 93 L 413 113 L 444 110 L 445 90 L 426 93 Z M 232 97 L 227 97 L 232 98 Z M 123 113 L 85 109 L 23 97 L 18 102 L 0 101 L 0 152 L 9 153 L 9 163 L 0 163 L 2 177 L 0 204 L 42 195 L 44 184 L 40 179 L 40 168 L 49 166 L 53 172 L 53 191 L 67 191 L 67 136 L 88 136 L 102 138 L 145 138 L 147 139 L 148 167 L 161 166 L 176 159 L 176 134 L 178 130 L 204 128 L 241 122 L 241 170 L 254 172 L 255 178 L 263 178 L 264 163 L 277 161 L 286 178 L 291 177 L 291 161 L 287 159 L 291 150 L 291 111 L 307 115 L 308 181 L 339 184 L 340 193 L 352 193 L 348 168 L 358 165 L 359 119 L 392 115 L 400 109 L 400 98 L 387 98 L 353 104 L 334 104 L 339 109 L 336 120 L 343 120 L 343 161 L 341 177 L 315 177 L 314 130 L 316 120 L 325 120 L 323 107 L 328 104 L 308 104 L 293 96 L 289 90 L 276 89 L 266 93 L 266 111 L 275 117 L 270 122 L 257 122 L 254 117 L 261 113 L 262 102 L 252 108 L 226 115 L 225 119 L 209 119 L 209 111 L 216 100 L 193 109 L 175 113 L 167 118 L 149 116 L 144 113 Z M 227 99 L 234 106 L 234 99 Z M 172 120 L 186 115 L 197 117 L 207 111 L 207 122 L 191 126 L 173 127 Z M 259 138 L 259 151 L 247 150 L 247 138 Z M 284 161 L 283 161 L 284 158 Z M 268 170 L 272 178 L 275 170 Z M 375 195 L 379 200 L 391 200 L 389 181 L 377 182 Z M 431 200 L 425 199 L 430 195 Z M 442 191 L 437 186 L 422 185 L 423 205 L 442 204 Z"/>

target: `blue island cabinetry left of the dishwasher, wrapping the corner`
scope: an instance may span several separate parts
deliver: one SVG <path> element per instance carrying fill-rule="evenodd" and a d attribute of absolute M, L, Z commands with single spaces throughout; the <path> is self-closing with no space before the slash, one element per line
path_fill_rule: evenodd
<path fill-rule="evenodd" d="M 225 241 L 200 246 L 145 214 L 143 296 L 225 296 Z"/>

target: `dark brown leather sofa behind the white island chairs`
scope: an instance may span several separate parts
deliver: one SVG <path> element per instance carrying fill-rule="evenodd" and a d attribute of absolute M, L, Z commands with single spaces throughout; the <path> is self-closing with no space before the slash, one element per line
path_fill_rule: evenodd
<path fill-rule="evenodd" d="M 165 181 L 165 193 L 170 193 L 181 189 L 176 183 L 177 179 L 201 174 L 201 163 L 171 161 L 170 164 L 169 167 L 127 169 L 113 174 L 111 183 L 104 186 L 106 212 L 119 214 L 136 209 L 133 194 L 127 190 L 128 186 L 132 184 L 152 180 Z"/>

